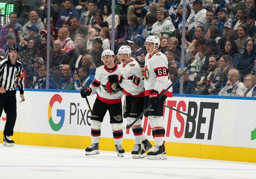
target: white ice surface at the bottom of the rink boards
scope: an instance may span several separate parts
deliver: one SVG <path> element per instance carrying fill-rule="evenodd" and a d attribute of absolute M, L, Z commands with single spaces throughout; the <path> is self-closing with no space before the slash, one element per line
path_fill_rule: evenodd
<path fill-rule="evenodd" d="M 132 146 L 131 146 L 132 147 Z M 0 178 L 8 179 L 255 179 L 256 164 L 219 160 L 167 157 L 167 160 L 132 159 L 129 152 L 100 151 L 85 156 L 84 150 L 17 145 L 0 146 Z"/>

